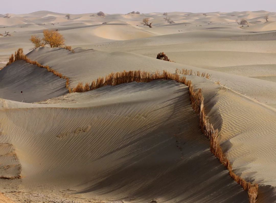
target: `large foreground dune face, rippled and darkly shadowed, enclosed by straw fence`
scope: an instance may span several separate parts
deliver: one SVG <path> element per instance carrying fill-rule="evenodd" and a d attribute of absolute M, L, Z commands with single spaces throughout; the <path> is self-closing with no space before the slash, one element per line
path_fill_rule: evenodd
<path fill-rule="evenodd" d="M 119 93 L 124 96 L 118 97 Z M 22 152 L 17 153 L 25 180 L 21 187 L 47 184 L 44 189 L 71 188 L 86 196 L 126 202 L 247 201 L 246 192 L 209 152 L 185 85 L 156 80 L 74 93 L 64 99 L 29 104 L 27 111 L 19 102 L 20 109 L 1 110 L 1 118 L 8 118 L 1 119 L 1 124 L 6 123 L 1 125 L 4 137 Z M 77 108 L 71 108 L 72 101 Z M 22 113 L 32 126 L 18 122 Z M 38 153 L 30 156 L 26 149 Z M 215 182 L 219 182 L 216 193 L 209 195 L 206 189 L 202 193 L 203 188 L 213 190 Z M 191 189 L 201 195 L 191 195 Z"/>

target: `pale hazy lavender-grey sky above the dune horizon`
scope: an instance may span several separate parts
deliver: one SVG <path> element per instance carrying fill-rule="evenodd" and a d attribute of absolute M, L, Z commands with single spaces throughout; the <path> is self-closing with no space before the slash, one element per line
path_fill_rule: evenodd
<path fill-rule="evenodd" d="M 49 10 L 58 13 L 276 12 L 276 0 L 1 0 L 0 14 Z"/>

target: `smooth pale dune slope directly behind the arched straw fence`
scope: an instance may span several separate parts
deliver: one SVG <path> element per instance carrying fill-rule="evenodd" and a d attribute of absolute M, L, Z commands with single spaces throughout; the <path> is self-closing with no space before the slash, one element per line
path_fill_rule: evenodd
<path fill-rule="evenodd" d="M 230 52 L 230 53 L 233 54 L 235 52 Z M 213 52 L 214 57 L 217 56 L 218 54 L 221 54 L 221 52 L 220 51 Z M 253 54 L 253 53 L 250 53 L 250 54 Z M 186 57 L 187 53 L 185 52 L 184 54 L 182 52 L 173 52 L 171 53 L 171 55 L 174 55 L 175 57 L 177 57 L 177 59 L 181 58 L 183 60 L 184 58 L 183 56 Z M 227 55 L 225 55 L 225 59 L 228 59 L 226 58 L 226 56 Z M 275 54 L 271 54 L 271 57 L 269 57 L 269 59 L 270 60 L 274 59 L 275 58 L 274 56 Z M 28 57 L 32 60 L 38 61 L 42 65 L 49 65 L 54 69 L 56 69 L 57 71 L 59 71 L 60 73 L 66 75 L 67 77 L 70 77 L 71 87 L 75 87 L 78 84 L 78 82 L 83 82 L 83 83 L 91 82 L 93 79 L 96 79 L 100 76 L 107 75 L 112 71 L 117 72 L 117 71 L 130 70 L 130 69 L 131 70 L 141 69 L 145 71 L 155 72 L 156 70 L 166 69 L 173 73 L 176 68 L 186 68 L 186 69 L 192 68 L 194 71 L 200 71 L 200 72 L 206 71 L 206 69 L 203 69 L 203 68 L 183 65 L 183 64 L 187 64 L 187 60 L 183 60 L 182 64 L 171 63 L 171 62 L 166 62 L 166 61 L 157 60 L 150 57 L 145 57 L 138 54 L 131 54 L 126 52 L 108 52 L 108 51 L 75 49 L 75 53 L 72 53 L 68 50 L 64 50 L 60 48 L 50 49 L 50 48 L 44 47 L 44 48 L 38 48 L 30 52 L 28 54 Z M 64 60 L 60 60 L 60 57 L 62 57 Z M 195 60 L 196 57 L 197 55 L 195 54 L 192 60 L 196 61 Z M 90 60 L 83 60 L 84 58 L 89 58 Z M 110 60 L 103 60 L 106 58 Z M 172 59 L 174 60 L 174 58 Z M 218 62 L 214 58 L 213 60 L 214 62 Z M 229 62 L 231 62 L 230 59 L 228 60 Z M 243 62 L 242 59 L 241 61 Z M 82 64 L 82 66 L 76 69 L 76 67 L 80 63 Z M 104 68 L 99 69 L 98 67 L 104 67 Z M 238 76 L 238 75 L 235 75 L 234 77 L 234 75 L 231 73 L 218 72 L 214 70 L 208 70 L 208 72 L 212 74 L 213 80 L 220 80 L 222 84 L 227 84 L 227 87 L 239 93 L 246 94 L 246 96 L 249 96 L 253 99 L 257 99 L 258 101 L 261 101 L 273 107 L 276 106 L 276 102 L 275 102 L 276 95 L 274 94 L 274 92 L 276 92 L 276 86 L 273 82 L 266 81 L 266 80 L 259 80 L 259 79 L 250 78 L 250 77 Z M 261 76 L 261 74 L 258 74 L 258 76 Z"/>

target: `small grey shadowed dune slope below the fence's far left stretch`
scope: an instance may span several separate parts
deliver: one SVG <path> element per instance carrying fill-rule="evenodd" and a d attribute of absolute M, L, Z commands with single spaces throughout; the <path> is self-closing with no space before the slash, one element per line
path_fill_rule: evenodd
<path fill-rule="evenodd" d="M 49 74 L 44 68 L 17 61 L 0 70 L 0 97 L 20 102 L 38 102 L 67 93 L 65 82 L 65 79 Z"/>

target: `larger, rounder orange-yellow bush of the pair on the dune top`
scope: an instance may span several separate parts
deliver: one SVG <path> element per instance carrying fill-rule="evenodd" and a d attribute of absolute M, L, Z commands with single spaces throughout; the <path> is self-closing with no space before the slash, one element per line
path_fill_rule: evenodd
<path fill-rule="evenodd" d="M 62 34 L 55 30 L 43 30 L 43 41 L 45 45 L 50 47 L 61 47 L 65 43 L 65 39 Z"/>

